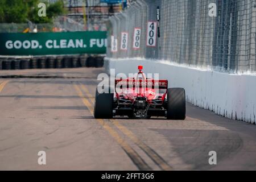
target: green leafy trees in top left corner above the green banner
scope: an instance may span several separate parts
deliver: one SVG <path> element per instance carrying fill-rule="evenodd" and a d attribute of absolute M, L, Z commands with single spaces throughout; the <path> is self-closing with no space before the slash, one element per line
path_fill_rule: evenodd
<path fill-rule="evenodd" d="M 38 16 L 38 4 L 46 3 L 46 16 Z M 63 1 L 49 4 L 41 0 L 0 0 L 0 23 L 51 23 L 55 16 L 64 14 Z"/>

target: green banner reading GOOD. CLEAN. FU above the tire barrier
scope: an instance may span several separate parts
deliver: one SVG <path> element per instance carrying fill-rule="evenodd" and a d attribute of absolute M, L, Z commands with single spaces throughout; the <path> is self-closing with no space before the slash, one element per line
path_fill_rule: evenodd
<path fill-rule="evenodd" d="M 105 31 L 0 33 L 0 55 L 106 53 Z"/>

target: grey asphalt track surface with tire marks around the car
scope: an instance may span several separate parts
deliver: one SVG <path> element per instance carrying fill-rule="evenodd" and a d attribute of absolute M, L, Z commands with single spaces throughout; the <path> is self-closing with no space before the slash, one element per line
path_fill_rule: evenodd
<path fill-rule="evenodd" d="M 0 71 L 0 169 L 256 169 L 255 125 L 190 104 L 185 121 L 94 119 L 101 72 Z M 39 151 L 46 165 L 38 164 Z M 209 151 L 217 152 L 217 165 L 209 165 Z"/>

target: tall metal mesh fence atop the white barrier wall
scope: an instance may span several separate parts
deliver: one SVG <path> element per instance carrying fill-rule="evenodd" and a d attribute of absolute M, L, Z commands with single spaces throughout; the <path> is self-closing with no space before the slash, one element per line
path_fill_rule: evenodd
<path fill-rule="evenodd" d="M 209 11 L 215 10 L 216 16 Z M 146 46 L 147 22 L 157 21 L 156 46 Z M 214 12 L 214 11 L 213 11 Z M 256 2 L 253 0 L 138 0 L 108 22 L 108 57 L 145 57 L 222 72 L 255 72 Z M 141 28 L 141 46 L 133 49 L 134 28 Z M 120 50 L 121 32 L 128 32 L 127 51 Z M 111 36 L 118 51 L 111 51 Z"/>

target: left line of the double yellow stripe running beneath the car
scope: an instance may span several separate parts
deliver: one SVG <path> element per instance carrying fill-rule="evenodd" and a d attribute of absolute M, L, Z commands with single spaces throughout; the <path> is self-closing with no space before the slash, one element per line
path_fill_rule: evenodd
<path fill-rule="evenodd" d="M 93 115 L 93 107 L 90 104 L 90 102 L 85 98 L 84 94 L 82 94 L 81 89 L 78 85 L 73 85 L 77 91 L 77 94 L 82 99 L 82 102 L 84 105 L 88 108 L 90 113 Z M 117 143 L 125 150 L 126 154 L 133 160 L 134 164 L 140 169 L 140 170 L 151 170 L 151 168 L 144 162 L 144 160 L 137 154 L 137 152 L 127 143 L 125 140 L 123 140 L 115 131 L 106 123 L 103 119 L 96 119 L 102 127 L 104 127 L 105 130 L 109 132 L 110 135 L 117 141 Z"/>

